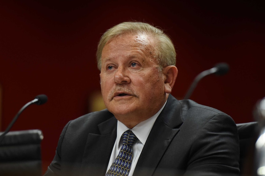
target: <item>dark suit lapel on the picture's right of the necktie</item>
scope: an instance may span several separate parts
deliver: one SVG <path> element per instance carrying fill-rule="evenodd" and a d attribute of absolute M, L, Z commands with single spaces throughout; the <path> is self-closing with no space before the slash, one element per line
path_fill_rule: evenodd
<path fill-rule="evenodd" d="M 134 170 L 134 176 L 151 176 L 154 173 L 182 123 L 180 102 L 170 95 L 146 140 Z"/>

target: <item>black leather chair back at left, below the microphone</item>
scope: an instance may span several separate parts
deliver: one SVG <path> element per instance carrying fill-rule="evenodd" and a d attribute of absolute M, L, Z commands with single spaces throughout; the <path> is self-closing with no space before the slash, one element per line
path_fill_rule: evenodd
<path fill-rule="evenodd" d="M 7 133 L 0 144 L 0 175 L 41 176 L 42 139 L 38 129 Z"/>

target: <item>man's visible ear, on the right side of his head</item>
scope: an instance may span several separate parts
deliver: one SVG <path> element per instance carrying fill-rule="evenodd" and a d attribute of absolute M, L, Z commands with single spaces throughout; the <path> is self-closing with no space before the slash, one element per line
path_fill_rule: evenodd
<path fill-rule="evenodd" d="M 178 76 L 178 69 L 176 66 L 166 66 L 163 68 L 162 72 L 165 76 L 165 93 L 171 93 L 171 90 Z"/>

